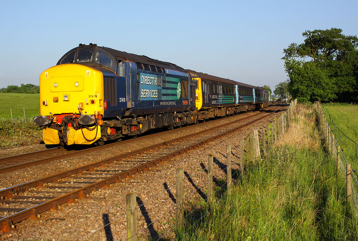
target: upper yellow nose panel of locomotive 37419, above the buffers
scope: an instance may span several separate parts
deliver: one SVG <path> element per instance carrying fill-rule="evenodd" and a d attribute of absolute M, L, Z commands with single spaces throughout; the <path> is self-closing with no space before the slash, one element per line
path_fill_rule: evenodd
<path fill-rule="evenodd" d="M 91 100 L 93 104 L 90 103 Z M 80 103 L 83 106 L 79 110 Z M 74 114 L 82 111 L 95 114 L 95 111 L 103 109 L 101 103 L 103 74 L 95 68 L 69 63 L 53 66 L 40 75 L 41 115 Z"/>

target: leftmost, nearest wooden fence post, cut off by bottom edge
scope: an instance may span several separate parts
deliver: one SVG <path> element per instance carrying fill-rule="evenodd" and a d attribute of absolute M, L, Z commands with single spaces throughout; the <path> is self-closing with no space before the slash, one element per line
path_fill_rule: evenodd
<path fill-rule="evenodd" d="M 136 194 L 128 193 L 126 195 L 126 211 L 127 211 L 127 240 L 137 241 L 137 210 L 136 210 Z"/>

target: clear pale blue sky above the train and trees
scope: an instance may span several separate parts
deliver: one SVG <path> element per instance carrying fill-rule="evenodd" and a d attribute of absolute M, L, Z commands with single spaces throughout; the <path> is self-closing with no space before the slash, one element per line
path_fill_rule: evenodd
<path fill-rule="evenodd" d="M 0 88 L 39 84 L 79 43 L 247 84 L 287 79 L 283 49 L 305 30 L 358 34 L 358 1 L 1 1 Z"/>

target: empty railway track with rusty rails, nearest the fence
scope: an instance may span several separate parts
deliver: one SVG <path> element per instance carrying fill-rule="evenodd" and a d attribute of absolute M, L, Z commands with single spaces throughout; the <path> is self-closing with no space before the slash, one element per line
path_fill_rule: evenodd
<path fill-rule="evenodd" d="M 3 213 L 0 230 L 10 231 L 18 222 L 28 218 L 38 219 L 40 213 L 58 209 L 63 203 L 76 203 L 77 199 L 86 198 L 93 191 L 147 171 L 176 155 L 203 146 L 284 107 L 278 107 L 279 109 L 269 114 L 260 112 L 231 123 L 0 190 L 0 213 Z"/>

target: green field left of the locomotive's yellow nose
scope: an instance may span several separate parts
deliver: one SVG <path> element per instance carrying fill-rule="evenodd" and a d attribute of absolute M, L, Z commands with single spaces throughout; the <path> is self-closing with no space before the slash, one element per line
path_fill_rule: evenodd
<path fill-rule="evenodd" d="M 40 94 L 0 93 L 0 119 L 24 120 L 26 122 L 40 114 Z"/>

